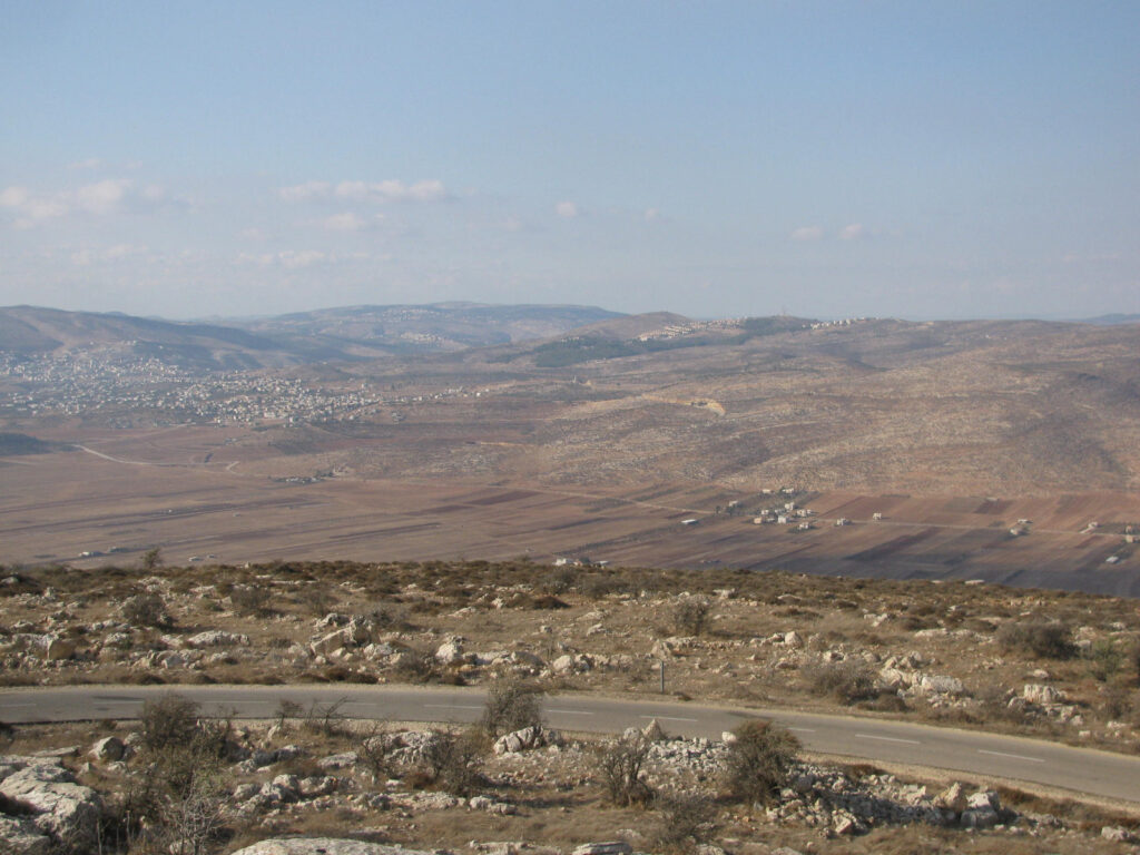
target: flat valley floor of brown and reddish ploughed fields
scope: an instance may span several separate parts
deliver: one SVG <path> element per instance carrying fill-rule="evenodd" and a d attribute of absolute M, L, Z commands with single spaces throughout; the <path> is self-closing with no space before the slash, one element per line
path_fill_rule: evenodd
<path fill-rule="evenodd" d="M 231 434 L 239 441 L 227 443 Z M 0 470 L 8 487 L 0 496 L 0 537 L 9 562 L 96 569 L 137 561 L 156 544 L 171 563 L 331 554 L 552 562 L 562 555 L 1140 594 L 1137 546 L 1125 536 L 1140 523 L 1134 494 L 987 499 L 803 488 L 766 496 L 716 483 L 552 487 L 347 474 L 299 483 L 272 478 L 333 470 L 282 457 L 256 432 L 104 432 L 85 443 L 114 459 L 57 451 L 8 458 Z M 790 499 L 814 512 L 811 530 L 797 530 L 797 518 L 791 526 L 752 524 L 755 513 Z M 733 502 L 740 504 L 730 512 Z M 700 524 L 684 526 L 685 519 Z M 837 528 L 839 519 L 852 524 Z M 1019 527 L 1019 519 L 1033 522 Z M 1088 530 L 1092 521 L 1100 526 Z M 1024 535 L 1012 537 L 1011 527 Z M 124 553 L 108 555 L 113 549 Z M 103 555 L 81 557 L 92 551 Z"/>

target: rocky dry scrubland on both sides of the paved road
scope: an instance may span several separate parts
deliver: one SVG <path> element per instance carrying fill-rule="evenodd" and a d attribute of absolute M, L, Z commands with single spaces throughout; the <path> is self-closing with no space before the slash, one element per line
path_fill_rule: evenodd
<path fill-rule="evenodd" d="M 486 684 L 506 698 L 484 719 L 487 732 L 450 735 L 351 723 L 334 705 L 282 705 L 268 723 L 196 724 L 193 705 L 177 697 L 149 705 L 141 723 L 7 731 L 0 811 L 39 833 L 46 814 L 19 808 L 21 798 L 33 783 L 50 792 L 78 780 L 91 789 L 68 798 L 88 799 L 90 822 L 101 817 L 103 852 L 192 852 L 178 847 L 193 841 L 199 852 L 233 852 L 303 832 L 504 855 L 508 846 L 494 841 L 527 841 L 512 844 L 521 853 L 613 839 L 642 852 L 700 844 L 733 855 L 781 846 L 1123 853 L 1137 826 L 978 782 L 923 787 L 869 766 L 793 760 L 779 734 L 743 759 L 740 746 L 661 740 L 652 728 L 657 741 L 531 730 L 492 749 L 534 720 L 526 689 L 510 692 L 646 695 L 663 657 L 682 698 L 984 725 L 1135 751 L 1140 616 L 1129 601 L 527 562 L 51 569 L 9 575 L 0 592 L 10 684 L 439 682 Z M 748 748 L 758 738 L 741 739 Z M 32 758 L 44 749 L 62 750 Z M 42 765 L 51 763 L 62 766 Z M 734 779 L 741 763 L 748 774 Z M 741 780 L 768 783 L 742 790 Z M 56 833 L 64 816 L 52 804 Z M 83 822 L 76 812 L 68 822 Z M 73 850 L 97 850 L 79 831 L 71 840 Z"/>

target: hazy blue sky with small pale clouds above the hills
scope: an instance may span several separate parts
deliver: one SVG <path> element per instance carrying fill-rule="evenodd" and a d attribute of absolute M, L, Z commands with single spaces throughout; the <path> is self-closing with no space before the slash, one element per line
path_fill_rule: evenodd
<path fill-rule="evenodd" d="M 0 304 L 1140 312 L 1137 2 L 51 2 Z"/>

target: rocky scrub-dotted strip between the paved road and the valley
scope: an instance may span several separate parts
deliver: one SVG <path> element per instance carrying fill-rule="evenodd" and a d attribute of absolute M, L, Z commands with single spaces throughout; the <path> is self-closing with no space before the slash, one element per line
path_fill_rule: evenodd
<path fill-rule="evenodd" d="M 0 681 L 668 689 L 1140 749 L 1134 602 L 524 562 L 10 572 Z"/>

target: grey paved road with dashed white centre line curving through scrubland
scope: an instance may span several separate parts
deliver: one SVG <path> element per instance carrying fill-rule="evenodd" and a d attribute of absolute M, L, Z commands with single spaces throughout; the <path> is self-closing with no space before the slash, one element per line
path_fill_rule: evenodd
<path fill-rule="evenodd" d="M 306 709 L 343 701 L 350 718 L 401 722 L 477 719 L 478 689 L 410 686 L 66 686 L 0 691 L 0 720 L 65 722 L 132 718 L 147 698 L 177 691 L 207 714 L 272 718 L 283 699 Z M 742 720 L 773 718 L 813 752 L 911 764 L 1010 779 L 1140 804 L 1140 758 L 1053 742 L 902 722 L 824 716 L 779 709 L 732 709 L 669 701 L 632 701 L 587 694 L 548 697 L 551 726 L 616 733 L 657 718 L 668 733 L 718 738 Z"/>

